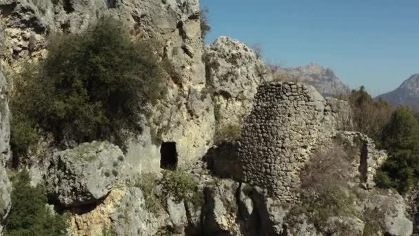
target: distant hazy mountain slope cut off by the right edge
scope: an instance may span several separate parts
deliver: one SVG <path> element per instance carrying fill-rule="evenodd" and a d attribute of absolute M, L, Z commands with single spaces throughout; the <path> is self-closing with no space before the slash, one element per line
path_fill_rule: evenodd
<path fill-rule="evenodd" d="M 419 74 L 412 75 L 399 88 L 378 98 L 388 101 L 393 106 L 403 105 L 419 110 Z"/>

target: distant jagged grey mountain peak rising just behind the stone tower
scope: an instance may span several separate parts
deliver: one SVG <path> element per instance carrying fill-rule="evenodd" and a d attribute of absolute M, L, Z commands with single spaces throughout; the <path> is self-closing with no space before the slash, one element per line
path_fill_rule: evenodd
<path fill-rule="evenodd" d="M 333 70 L 323 68 L 317 63 L 310 63 L 308 66 L 301 66 L 298 68 L 285 68 L 287 80 L 307 83 L 314 86 L 318 92 L 323 96 L 339 95 L 347 92 L 349 88 L 336 77 Z"/>

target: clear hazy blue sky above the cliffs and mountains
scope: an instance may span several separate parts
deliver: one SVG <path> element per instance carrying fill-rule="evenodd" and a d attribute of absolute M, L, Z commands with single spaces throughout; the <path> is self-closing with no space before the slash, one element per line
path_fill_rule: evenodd
<path fill-rule="evenodd" d="M 378 95 L 419 72 L 418 0 L 201 0 L 207 43 L 227 35 L 260 43 L 286 67 L 311 61 L 351 88 Z"/>

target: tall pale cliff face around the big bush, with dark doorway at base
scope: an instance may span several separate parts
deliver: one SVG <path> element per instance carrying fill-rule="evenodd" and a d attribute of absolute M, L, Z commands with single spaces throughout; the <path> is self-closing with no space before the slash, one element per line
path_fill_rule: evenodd
<path fill-rule="evenodd" d="M 198 0 L 1 0 L 3 55 L 6 68 L 46 55 L 49 35 L 85 30 L 102 16 L 119 19 L 136 39 L 156 41 L 159 55 L 172 63 L 167 97 L 152 108 L 140 137 L 133 137 L 127 161 L 134 172 L 160 170 L 160 148 L 176 143 L 178 166 L 202 157 L 212 145 L 214 105 L 206 92 Z M 199 132 L 197 131 L 199 130 Z M 141 151 L 139 151 L 141 150 Z"/>

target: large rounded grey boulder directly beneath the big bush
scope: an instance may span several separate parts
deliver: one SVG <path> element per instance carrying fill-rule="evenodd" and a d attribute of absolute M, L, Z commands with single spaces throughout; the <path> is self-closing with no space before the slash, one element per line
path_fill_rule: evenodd
<path fill-rule="evenodd" d="M 47 193 L 63 206 L 95 203 L 114 188 L 124 164 L 122 151 L 107 142 L 54 153 L 45 176 Z"/>

